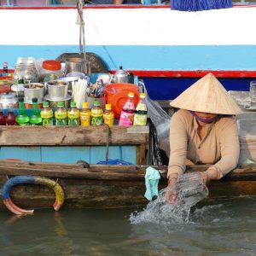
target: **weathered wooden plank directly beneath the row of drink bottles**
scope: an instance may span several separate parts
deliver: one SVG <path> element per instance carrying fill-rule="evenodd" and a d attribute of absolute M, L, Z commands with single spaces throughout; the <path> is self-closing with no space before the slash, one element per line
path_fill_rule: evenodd
<path fill-rule="evenodd" d="M 109 144 L 139 145 L 146 143 L 148 126 L 111 126 Z M 105 145 L 108 127 L 100 126 L 0 126 L 0 145 L 47 146 L 47 145 Z"/>

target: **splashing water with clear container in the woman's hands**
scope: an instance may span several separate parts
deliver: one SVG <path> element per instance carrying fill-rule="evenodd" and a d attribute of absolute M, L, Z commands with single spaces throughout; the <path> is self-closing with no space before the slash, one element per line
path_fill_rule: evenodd
<path fill-rule="evenodd" d="M 131 224 L 181 224 L 189 222 L 191 207 L 208 195 L 200 173 L 186 173 L 177 179 L 177 200 L 166 203 L 166 189 L 161 189 L 156 200 L 150 201 L 143 212 L 133 212 Z"/>

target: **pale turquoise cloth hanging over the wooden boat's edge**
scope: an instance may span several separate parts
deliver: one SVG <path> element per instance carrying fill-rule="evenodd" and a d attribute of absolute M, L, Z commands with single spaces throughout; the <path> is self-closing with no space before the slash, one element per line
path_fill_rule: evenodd
<path fill-rule="evenodd" d="M 145 197 L 151 201 L 154 195 L 158 195 L 158 183 L 160 173 L 153 167 L 148 167 L 145 174 L 146 193 Z"/>

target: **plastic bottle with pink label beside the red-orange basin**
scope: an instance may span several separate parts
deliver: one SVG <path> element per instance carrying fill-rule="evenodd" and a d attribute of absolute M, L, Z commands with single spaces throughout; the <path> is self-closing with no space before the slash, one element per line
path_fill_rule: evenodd
<path fill-rule="evenodd" d="M 131 126 L 133 123 L 133 117 L 135 113 L 135 105 L 134 105 L 134 93 L 129 92 L 128 100 L 125 102 L 123 110 L 120 114 L 119 125 L 120 126 Z"/>

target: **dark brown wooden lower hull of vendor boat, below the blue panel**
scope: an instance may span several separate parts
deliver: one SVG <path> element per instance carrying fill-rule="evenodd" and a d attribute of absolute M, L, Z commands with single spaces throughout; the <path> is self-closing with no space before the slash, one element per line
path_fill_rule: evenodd
<path fill-rule="evenodd" d="M 144 175 L 147 166 L 108 166 L 41 163 L 0 160 L 0 188 L 15 175 L 43 176 L 54 179 L 65 193 L 64 207 L 113 208 L 143 206 Z M 166 166 L 160 171 L 160 186 L 166 187 Z M 202 172 L 207 166 L 188 166 L 189 172 Z M 256 195 L 256 165 L 239 166 L 220 181 L 212 181 L 209 198 Z M 40 185 L 17 185 L 11 190 L 12 200 L 20 207 L 51 207 L 53 191 Z M 0 208 L 3 208 L 0 201 Z"/>

